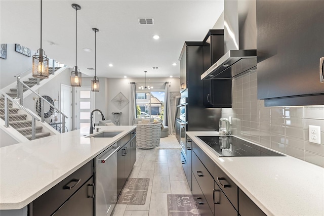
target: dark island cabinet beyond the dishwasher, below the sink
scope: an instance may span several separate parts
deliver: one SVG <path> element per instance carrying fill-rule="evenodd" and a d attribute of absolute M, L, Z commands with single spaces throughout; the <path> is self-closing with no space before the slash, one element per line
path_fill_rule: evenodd
<path fill-rule="evenodd" d="M 117 145 L 121 146 L 117 151 L 117 195 L 123 189 L 136 161 L 136 129 L 126 137 L 131 139 L 124 139 L 119 144 L 119 141 L 117 142 Z"/>

